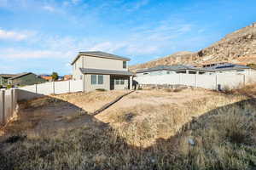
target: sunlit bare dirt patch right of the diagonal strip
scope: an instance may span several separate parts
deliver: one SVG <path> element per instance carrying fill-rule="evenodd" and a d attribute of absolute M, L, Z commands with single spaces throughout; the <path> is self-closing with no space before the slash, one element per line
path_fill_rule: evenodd
<path fill-rule="evenodd" d="M 173 107 L 183 107 L 189 101 L 194 101 L 202 98 L 211 98 L 216 95 L 216 92 L 212 92 L 206 89 L 183 89 L 180 92 L 167 92 L 166 90 L 138 90 L 124 99 L 119 100 L 108 110 L 103 111 L 96 116 L 102 122 L 112 122 L 109 119 L 109 115 L 125 109 L 139 107 L 142 105 L 150 105 L 151 107 L 158 107 L 160 105 L 173 105 Z"/>

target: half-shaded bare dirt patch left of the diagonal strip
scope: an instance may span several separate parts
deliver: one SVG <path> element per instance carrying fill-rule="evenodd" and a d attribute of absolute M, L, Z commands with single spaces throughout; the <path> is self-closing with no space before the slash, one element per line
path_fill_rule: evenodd
<path fill-rule="evenodd" d="M 61 94 L 22 103 L 16 120 L 0 130 L 0 137 L 4 133 L 49 135 L 84 125 L 93 126 L 96 122 L 90 116 L 93 111 L 128 92 L 120 90 Z"/>

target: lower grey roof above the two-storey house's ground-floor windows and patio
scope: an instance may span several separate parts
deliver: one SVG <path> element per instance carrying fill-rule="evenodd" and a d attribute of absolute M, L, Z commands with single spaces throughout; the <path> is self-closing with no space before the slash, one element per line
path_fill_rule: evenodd
<path fill-rule="evenodd" d="M 130 71 L 111 71 L 111 70 L 84 69 L 84 68 L 80 68 L 80 71 L 83 74 L 124 75 L 124 76 L 133 75 L 133 73 Z"/>

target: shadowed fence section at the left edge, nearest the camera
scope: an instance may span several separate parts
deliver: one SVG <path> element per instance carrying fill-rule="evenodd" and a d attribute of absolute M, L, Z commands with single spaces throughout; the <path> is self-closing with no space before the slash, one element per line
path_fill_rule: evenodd
<path fill-rule="evenodd" d="M 17 89 L 0 91 L 0 127 L 15 115 L 17 101 Z"/>

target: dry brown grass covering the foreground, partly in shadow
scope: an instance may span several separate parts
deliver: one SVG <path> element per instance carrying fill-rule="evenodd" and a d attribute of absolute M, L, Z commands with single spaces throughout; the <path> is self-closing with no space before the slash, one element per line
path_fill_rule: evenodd
<path fill-rule="evenodd" d="M 93 126 L 0 143 L 0 169 L 253 170 L 256 101 L 247 99 L 216 93 L 183 106 L 139 104 L 105 116 L 110 123 L 88 116 Z"/>

